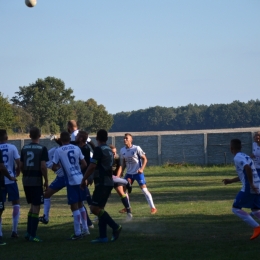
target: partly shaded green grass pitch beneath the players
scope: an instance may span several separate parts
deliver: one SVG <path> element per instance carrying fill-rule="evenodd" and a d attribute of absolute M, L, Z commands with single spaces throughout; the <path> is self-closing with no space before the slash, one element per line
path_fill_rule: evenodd
<path fill-rule="evenodd" d="M 27 242 L 23 234 L 28 205 L 19 180 L 20 237 L 9 238 L 11 207 L 6 203 L 3 232 L 7 245 L 0 247 L 0 259 L 257 259 L 260 238 L 250 241 L 252 228 L 231 212 L 240 183 L 224 186 L 221 182 L 233 176 L 233 166 L 148 167 L 146 180 L 158 213 L 150 215 L 135 184 L 130 196 L 134 218 L 124 222 L 125 216 L 118 213 L 122 204 L 113 192 L 106 209 L 123 231 L 118 241 L 95 245 L 90 240 L 97 237 L 97 226 L 82 240 L 66 240 L 73 233 L 73 219 L 65 190 L 52 197 L 49 224 L 39 224 L 37 235 L 44 241 Z M 50 179 L 53 177 L 50 173 Z"/>

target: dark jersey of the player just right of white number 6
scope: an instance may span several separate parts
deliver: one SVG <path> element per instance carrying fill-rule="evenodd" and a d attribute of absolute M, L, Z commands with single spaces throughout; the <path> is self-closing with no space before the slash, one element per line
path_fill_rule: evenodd
<path fill-rule="evenodd" d="M 91 163 L 97 165 L 94 181 L 95 185 L 114 186 L 112 175 L 113 153 L 106 144 L 95 147 Z"/>

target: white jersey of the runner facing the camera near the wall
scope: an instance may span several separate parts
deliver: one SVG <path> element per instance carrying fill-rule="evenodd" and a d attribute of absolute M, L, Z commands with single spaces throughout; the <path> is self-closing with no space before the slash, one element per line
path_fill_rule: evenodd
<path fill-rule="evenodd" d="M 123 147 L 120 150 L 120 159 L 125 161 L 126 174 L 137 174 L 138 169 L 142 167 L 142 156 L 145 155 L 140 146 L 132 145 Z"/>

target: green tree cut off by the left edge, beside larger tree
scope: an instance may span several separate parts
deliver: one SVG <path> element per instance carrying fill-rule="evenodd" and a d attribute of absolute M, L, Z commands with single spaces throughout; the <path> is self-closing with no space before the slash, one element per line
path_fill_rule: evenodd
<path fill-rule="evenodd" d="M 14 123 L 14 113 L 8 98 L 0 92 L 0 128 L 10 130 Z"/>

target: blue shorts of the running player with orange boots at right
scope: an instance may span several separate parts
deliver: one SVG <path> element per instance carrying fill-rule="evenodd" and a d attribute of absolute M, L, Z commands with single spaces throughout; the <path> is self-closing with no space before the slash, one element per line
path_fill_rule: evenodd
<path fill-rule="evenodd" d="M 260 195 L 240 191 L 234 200 L 233 208 L 260 209 Z"/>

